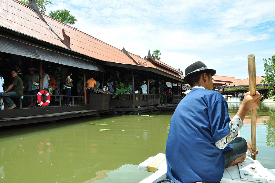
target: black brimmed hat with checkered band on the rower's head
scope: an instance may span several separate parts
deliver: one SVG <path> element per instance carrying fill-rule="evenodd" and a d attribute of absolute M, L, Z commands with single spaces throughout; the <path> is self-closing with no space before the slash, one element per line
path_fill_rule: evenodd
<path fill-rule="evenodd" d="M 183 78 L 183 82 L 188 83 L 187 81 L 189 80 L 189 78 L 195 76 L 196 74 L 206 73 L 206 72 L 210 72 L 211 76 L 215 75 L 215 73 L 216 73 L 216 71 L 214 69 L 208 69 L 204 63 L 202 63 L 200 61 L 195 62 L 195 63 L 189 65 L 185 69 L 185 77 Z"/>

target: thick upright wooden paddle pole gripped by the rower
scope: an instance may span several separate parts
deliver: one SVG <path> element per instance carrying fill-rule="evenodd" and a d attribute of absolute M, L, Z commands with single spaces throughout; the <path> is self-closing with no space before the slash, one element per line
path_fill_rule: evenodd
<path fill-rule="evenodd" d="M 250 96 L 256 95 L 256 67 L 255 55 L 248 55 L 248 75 L 249 75 L 249 92 Z M 251 148 L 256 150 L 256 123 L 257 123 L 257 108 L 251 110 Z M 256 159 L 256 155 L 251 155 L 252 159 Z"/>

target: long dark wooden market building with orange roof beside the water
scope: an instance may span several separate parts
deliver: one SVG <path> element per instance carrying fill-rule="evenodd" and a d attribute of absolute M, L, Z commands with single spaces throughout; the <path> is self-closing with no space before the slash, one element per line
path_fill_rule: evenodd
<path fill-rule="evenodd" d="M 42 89 L 42 67 L 55 75 L 55 96 L 59 105 L 49 107 L 25 108 L 26 99 L 21 102 L 20 109 L 0 110 L 0 126 L 55 121 L 58 119 L 99 115 L 100 113 L 131 112 L 132 114 L 156 110 L 160 105 L 159 91 L 149 94 L 149 85 L 159 86 L 161 83 L 171 84 L 172 101 L 177 105 L 182 99 L 183 76 L 180 69 L 155 59 L 150 50 L 144 57 L 138 57 L 125 48 L 119 50 L 84 32 L 63 24 L 39 12 L 34 0 L 29 6 L 17 0 L 0 1 L 0 72 L 5 84 L 10 83 L 10 71 L 14 64 L 21 66 L 23 83 L 27 82 L 28 68 L 37 68 L 40 78 L 39 89 Z M 62 84 L 66 73 L 72 71 L 73 85 L 78 79 L 84 81 L 84 104 L 74 105 L 76 91 L 72 90 L 73 106 L 63 106 L 64 92 Z M 89 75 L 98 78 L 101 94 L 91 99 L 97 103 L 87 104 L 86 79 Z M 131 94 L 110 97 L 103 92 L 104 82 L 110 78 L 118 78 L 123 82 L 131 81 Z M 140 82 L 145 80 L 148 94 L 134 94 Z M 24 93 L 25 95 L 25 93 Z M 74 97 L 75 96 L 75 97 Z M 102 96 L 102 97 L 99 97 Z M 25 96 L 24 96 L 25 97 Z M 106 102 L 106 97 L 108 102 Z M 50 115 L 50 117 L 48 117 Z M 47 116 L 47 118 L 45 118 Z"/>

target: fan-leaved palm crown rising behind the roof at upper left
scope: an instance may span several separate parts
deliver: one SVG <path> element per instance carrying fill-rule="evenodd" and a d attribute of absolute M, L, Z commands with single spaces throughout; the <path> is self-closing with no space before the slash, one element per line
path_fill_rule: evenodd
<path fill-rule="evenodd" d="M 74 16 L 70 15 L 70 10 L 68 9 L 51 11 L 49 16 L 67 25 L 73 25 L 77 20 Z"/>

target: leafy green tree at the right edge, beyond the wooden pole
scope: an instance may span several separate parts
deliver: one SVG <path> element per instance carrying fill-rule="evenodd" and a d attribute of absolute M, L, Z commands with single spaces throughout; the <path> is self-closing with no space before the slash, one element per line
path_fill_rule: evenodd
<path fill-rule="evenodd" d="M 268 84 L 267 88 L 275 88 L 275 55 L 271 58 L 263 58 L 264 61 L 264 71 L 266 73 L 266 77 L 261 82 Z"/>

